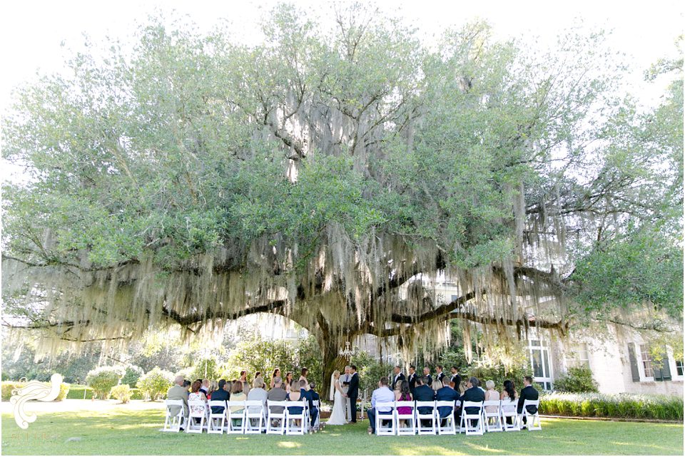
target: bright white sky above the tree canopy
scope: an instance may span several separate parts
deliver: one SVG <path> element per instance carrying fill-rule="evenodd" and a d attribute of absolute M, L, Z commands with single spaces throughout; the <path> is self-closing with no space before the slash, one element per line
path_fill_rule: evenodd
<path fill-rule="evenodd" d="M 11 88 L 34 77 L 36 70 L 57 71 L 64 58 L 60 47 L 78 48 L 86 33 L 93 41 L 106 34 L 124 38 L 156 11 L 187 14 L 201 30 L 219 19 L 228 19 L 248 39 L 254 36 L 255 21 L 276 2 L 273 0 L 117 0 L 2 2 L 0 38 L 3 69 L 0 72 L 0 104 L 6 106 Z M 323 1 L 295 1 L 303 9 L 314 9 Z M 546 43 L 555 34 L 582 17 L 587 26 L 614 29 L 611 44 L 624 51 L 635 65 L 635 81 L 657 58 L 674 53 L 674 40 L 683 33 L 682 2 L 669 0 L 634 1 L 377 1 L 383 11 L 400 15 L 427 36 L 447 26 L 480 17 L 494 25 L 501 36 L 539 35 Z"/>

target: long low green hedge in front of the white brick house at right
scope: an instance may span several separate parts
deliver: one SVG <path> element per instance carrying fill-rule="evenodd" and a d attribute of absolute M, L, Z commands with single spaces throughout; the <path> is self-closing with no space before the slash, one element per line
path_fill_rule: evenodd
<path fill-rule="evenodd" d="M 552 392 L 540 396 L 540 412 L 559 416 L 682 421 L 683 399 L 667 395 Z"/>

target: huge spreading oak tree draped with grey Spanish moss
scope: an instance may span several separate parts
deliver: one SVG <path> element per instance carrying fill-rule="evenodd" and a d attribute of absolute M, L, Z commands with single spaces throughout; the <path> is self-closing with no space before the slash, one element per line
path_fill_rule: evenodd
<path fill-rule="evenodd" d="M 153 22 L 18 91 L 4 324 L 56 347 L 278 313 L 328 379 L 345 341 L 431 349 L 450 318 L 681 317 L 681 79 L 645 113 L 602 34 L 531 50 L 476 23 L 429 48 L 358 6 L 335 18 L 280 6 L 259 46 Z"/>

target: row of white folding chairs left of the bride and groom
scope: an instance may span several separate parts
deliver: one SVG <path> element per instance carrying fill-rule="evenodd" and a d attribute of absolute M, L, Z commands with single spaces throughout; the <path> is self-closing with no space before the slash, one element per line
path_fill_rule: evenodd
<path fill-rule="evenodd" d="M 181 431 L 186 433 L 275 433 L 280 435 L 304 435 L 320 427 L 320 405 L 315 400 L 312 403 L 316 417 L 312 424 L 310 420 L 308 401 L 267 401 L 267 407 L 260 400 L 244 401 L 188 401 L 188 415 L 183 410 L 183 400 L 166 400 L 166 417 L 162 431 Z M 237 411 L 230 411 L 231 407 L 240 407 Z M 213 413 L 212 408 L 223 408 L 219 413 Z M 302 408 L 300 414 L 288 411 L 290 408 Z M 176 414 L 171 410 L 178 408 Z M 274 409 L 283 408 L 275 412 Z M 239 422 L 235 425 L 233 421 Z"/>

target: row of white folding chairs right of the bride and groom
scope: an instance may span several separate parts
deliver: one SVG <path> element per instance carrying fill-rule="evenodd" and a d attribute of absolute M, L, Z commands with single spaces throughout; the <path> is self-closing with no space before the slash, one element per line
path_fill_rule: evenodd
<path fill-rule="evenodd" d="M 462 414 L 457 425 L 454 411 L 460 406 Z M 534 414 L 528 412 L 528 406 L 535 407 Z M 465 401 L 463 405 L 459 400 L 383 402 L 375 407 L 375 430 L 377 435 L 482 435 L 486 431 L 519 431 L 524 427 L 524 418 L 528 430 L 542 430 L 538 407 L 539 400 L 525 400 L 522 413 L 517 414 L 517 401 Z M 410 412 L 400 414 L 400 408 Z M 449 409 L 450 414 L 440 417 L 442 408 Z M 385 411 L 379 412 L 381 409 Z"/>

